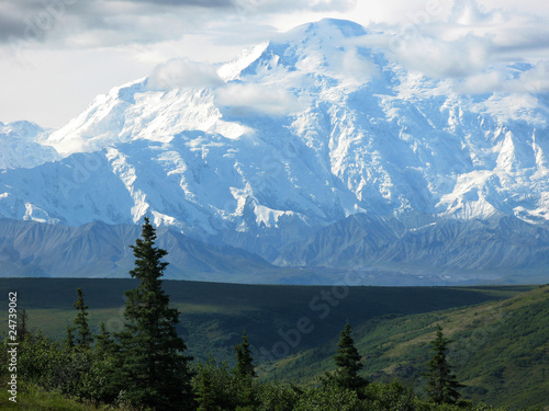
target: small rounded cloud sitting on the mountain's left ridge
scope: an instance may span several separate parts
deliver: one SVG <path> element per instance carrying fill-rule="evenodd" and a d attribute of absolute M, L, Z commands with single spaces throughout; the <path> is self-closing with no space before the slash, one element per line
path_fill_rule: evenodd
<path fill-rule="evenodd" d="M 211 88 L 224 84 L 216 68 L 210 64 L 195 62 L 187 58 L 171 59 L 157 66 L 148 77 L 150 90 L 181 88 Z"/>

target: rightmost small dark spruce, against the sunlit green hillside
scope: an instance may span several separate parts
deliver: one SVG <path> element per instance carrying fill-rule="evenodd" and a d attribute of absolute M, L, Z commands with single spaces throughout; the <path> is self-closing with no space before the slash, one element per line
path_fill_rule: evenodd
<path fill-rule="evenodd" d="M 451 340 L 442 335 L 442 328 L 438 326 L 437 336 L 432 341 L 435 355 L 427 364 L 427 373 L 423 374 L 427 378 L 427 393 L 436 403 L 457 403 L 461 397 L 458 389 L 464 387 L 456 379 L 446 358 L 450 343 Z"/>

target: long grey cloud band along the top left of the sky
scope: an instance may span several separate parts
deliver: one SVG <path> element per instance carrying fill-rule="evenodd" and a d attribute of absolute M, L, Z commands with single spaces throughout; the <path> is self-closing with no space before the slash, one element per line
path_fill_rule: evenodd
<path fill-rule="evenodd" d="M 0 43 L 69 46 L 150 43 L 226 21 L 296 10 L 348 10 L 355 0 L 21 0 L 0 2 Z M 257 27 L 257 23 L 254 23 Z M 78 36 L 80 41 L 72 41 Z M 82 41 L 82 38 L 85 41 Z"/>

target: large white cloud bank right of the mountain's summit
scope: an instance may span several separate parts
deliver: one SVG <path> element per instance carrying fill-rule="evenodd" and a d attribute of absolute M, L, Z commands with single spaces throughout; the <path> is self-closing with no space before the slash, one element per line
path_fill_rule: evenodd
<path fill-rule="evenodd" d="M 406 12 L 396 24 L 370 24 L 371 33 L 356 45 L 385 49 L 407 69 L 430 78 L 467 79 L 463 89 L 490 89 L 508 77 L 506 64 L 541 60 L 549 53 L 547 19 L 500 5 L 457 0 L 447 10 L 425 7 Z"/>

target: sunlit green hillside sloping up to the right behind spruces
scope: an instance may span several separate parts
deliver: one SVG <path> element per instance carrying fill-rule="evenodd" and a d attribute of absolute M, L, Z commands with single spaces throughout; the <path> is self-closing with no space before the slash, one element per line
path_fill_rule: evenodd
<path fill-rule="evenodd" d="M 358 323 L 355 341 L 372 380 L 394 378 L 421 388 L 436 326 L 452 343 L 450 363 L 468 387 L 467 398 L 512 410 L 549 409 L 549 286 L 501 301 L 412 316 L 384 316 Z M 337 339 L 265 370 L 285 380 L 312 380 L 333 369 Z"/>

